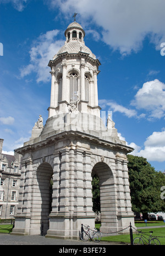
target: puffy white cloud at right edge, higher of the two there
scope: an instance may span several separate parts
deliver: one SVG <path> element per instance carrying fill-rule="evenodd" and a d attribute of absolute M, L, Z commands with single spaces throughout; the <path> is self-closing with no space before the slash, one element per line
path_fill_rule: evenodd
<path fill-rule="evenodd" d="M 165 115 L 165 84 L 158 79 L 146 82 L 131 102 L 137 109 L 149 111 L 149 118 L 163 118 Z"/>

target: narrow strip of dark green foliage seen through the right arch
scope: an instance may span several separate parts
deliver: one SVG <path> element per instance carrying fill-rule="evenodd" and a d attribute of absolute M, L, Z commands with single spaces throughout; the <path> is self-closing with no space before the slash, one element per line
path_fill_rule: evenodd
<path fill-rule="evenodd" d="M 98 212 L 100 211 L 100 186 L 97 175 L 92 180 L 92 195 L 93 211 Z"/>

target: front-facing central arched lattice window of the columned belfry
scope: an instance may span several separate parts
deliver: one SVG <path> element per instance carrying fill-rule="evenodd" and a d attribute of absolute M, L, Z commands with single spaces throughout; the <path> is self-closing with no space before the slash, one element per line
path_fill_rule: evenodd
<path fill-rule="evenodd" d="M 76 103 L 78 100 L 78 75 L 76 73 L 70 73 L 69 77 L 69 97 L 70 102 Z"/>

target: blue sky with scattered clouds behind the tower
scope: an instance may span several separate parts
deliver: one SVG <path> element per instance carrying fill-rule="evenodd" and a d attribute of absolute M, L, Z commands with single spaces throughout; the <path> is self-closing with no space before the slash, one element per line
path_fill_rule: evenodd
<path fill-rule="evenodd" d="M 51 92 L 47 64 L 63 46 L 64 31 L 76 12 L 85 45 L 101 62 L 99 105 L 112 111 L 118 134 L 135 148 L 133 154 L 163 172 L 164 9 L 164 0 L 0 0 L 4 152 L 29 140 L 38 115 L 46 122 Z"/>

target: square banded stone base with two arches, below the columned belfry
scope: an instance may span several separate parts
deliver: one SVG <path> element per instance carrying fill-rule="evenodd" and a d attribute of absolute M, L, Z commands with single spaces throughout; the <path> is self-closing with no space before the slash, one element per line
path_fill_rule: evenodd
<path fill-rule="evenodd" d="M 101 232 L 120 231 L 130 221 L 134 226 L 127 168 L 132 149 L 119 140 L 116 129 L 113 135 L 100 118 L 86 113 L 48 119 L 41 135 L 17 150 L 23 159 L 13 234 L 40 234 L 43 223 L 46 237 L 79 239 L 82 223 L 95 226 L 95 174 L 100 179 Z"/>

